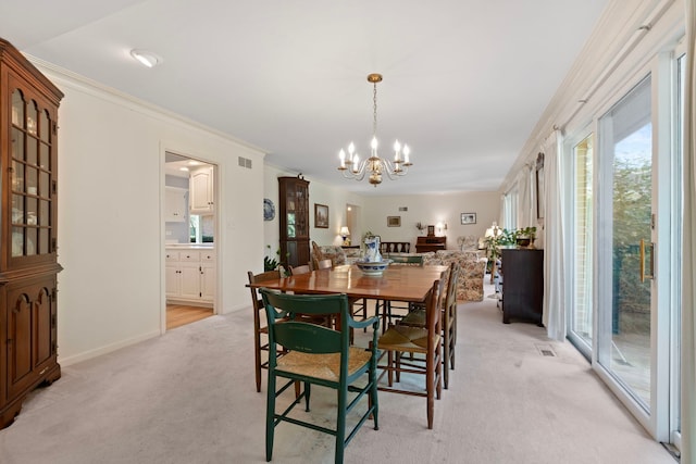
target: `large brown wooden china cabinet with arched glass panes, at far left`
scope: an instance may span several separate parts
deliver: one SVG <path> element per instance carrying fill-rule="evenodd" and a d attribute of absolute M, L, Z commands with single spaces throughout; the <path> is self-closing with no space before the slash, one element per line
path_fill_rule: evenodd
<path fill-rule="evenodd" d="M 58 106 L 63 93 L 0 39 L 0 428 L 57 356 Z"/>

